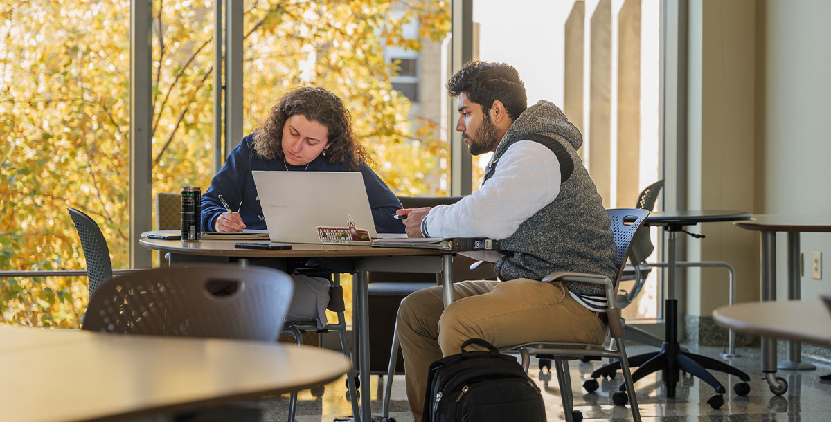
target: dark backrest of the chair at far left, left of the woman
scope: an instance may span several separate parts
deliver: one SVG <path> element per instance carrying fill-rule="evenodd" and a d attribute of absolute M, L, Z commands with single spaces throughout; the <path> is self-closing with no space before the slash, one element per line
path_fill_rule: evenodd
<path fill-rule="evenodd" d="M 86 277 L 92 297 L 102 282 L 112 278 L 110 248 L 107 248 L 101 228 L 90 216 L 74 208 L 66 207 L 66 210 L 69 211 L 78 237 L 81 238 L 81 249 L 86 258 Z"/>

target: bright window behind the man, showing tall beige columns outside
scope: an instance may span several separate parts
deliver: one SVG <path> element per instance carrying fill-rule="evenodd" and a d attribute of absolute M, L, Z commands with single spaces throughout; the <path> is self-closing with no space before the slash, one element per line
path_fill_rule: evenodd
<path fill-rule="evenodd" d="M 634 207 L 640 190 L 659 179 L 659 3 L 518 0 L 506 8 L 482 0 L 473 12 L 475 59 L 516 67 L 529 105 L 543 99 L 558 105 L 583 133 L 578 154 L 603 205 Z M 504 37 L 505 27 L 523 33 Z M 473 189 L 488 159 L 474 158 Z M 656 317 L 655 274 L 625 317 Z"/>

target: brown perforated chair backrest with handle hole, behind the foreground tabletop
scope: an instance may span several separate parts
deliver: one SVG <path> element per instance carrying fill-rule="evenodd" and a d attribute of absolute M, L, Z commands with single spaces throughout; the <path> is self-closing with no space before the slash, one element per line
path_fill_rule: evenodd
<path fill-rule="evenodd" d="M 285 272 L 265 267 L 160 267 L 107 280 L 83 329 L 275 341 L 292 300 Z"/>

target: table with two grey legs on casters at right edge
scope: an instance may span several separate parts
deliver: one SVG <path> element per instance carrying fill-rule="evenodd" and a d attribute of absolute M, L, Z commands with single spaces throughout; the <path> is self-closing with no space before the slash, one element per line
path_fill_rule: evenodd
<path fill-rule="evenodd" d="M 829 215 L 754 215 L 748 221 L 734 223 L 740 228 L 753 230 L 761 236 L 761 289 L 762 301 L 776 300 L 776 233 L 788 233 L 788 299 L 799 300 L 802 296 L 799 282 L 799 233 L 831 232 Z M 798 340 L 789 341 L 788 360 L 776 363 L 776 341 L 762 337 L 762 372 L 775 395 L 788 390 L 784 379 L 776 377 L 776 370 L 813 370 L 816 366 L 802 361 L 802 345 Z"/>

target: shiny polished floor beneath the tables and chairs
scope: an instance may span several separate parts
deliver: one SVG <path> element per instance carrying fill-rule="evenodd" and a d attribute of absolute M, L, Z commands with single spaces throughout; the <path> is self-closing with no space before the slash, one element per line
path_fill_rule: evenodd
<path fill-rule="evenodd" d="M 687 346 L 691 351 L 702 355 L 720 358 L 721 348 Z M 655 350 L 649 346 L 628 346 L 630 355 L 644 351 Z M 779 357 L 784 356 L 779 352 Z M 676 398 L 666 399 L 663 387 L 658 382 L 660 375 L 648 375 L 647 378 L 636 383 L 637 398 L 640 404 L 642 419 L 645 421 L 681 422 L 681 421 L 831 421 L 831 382 L 820 380 L 820 375 L 831 374 L 831 366 L 813 362 L 817 370 L 809 371 L 779 371 L 777 375 L 788 381 L 789 389 L 781 396 L 773 395 L 763 379 L 760 366 L 760 352 L 758 349 L 739 348 L 738 357 L 727 362 L 744 370 L 750 375 L 750 394 L 744 397 L 735 395 L 733 385 L 740 380 L 735 376 L 716 373 L 715 377 L 725 385 L 728 393 L 724 395 L 725 404 L 714 410 L 706 404 L 706 400 L 715 393 L 710 385 L 701 380 L 685 375 L 677 386 Z M 617 375 L 615 380 L 601 380 L 600 389 L 588 394 L 583 390 L 583 381 L 590 378 L 589 374 L 600 365 L 600 362 L 570 363 L 572 385 L 575 393 L 574 407 L 583 413 L 583 420 L 632 420 L 632 414 L 627 407 L 612 404 L 612 392 L 622 382 Z M 531 377 L 537 381 L 543 390 L 549 421 L 563 420 L 563 408 L 558 395 L 556 375 L 549 374 L 548 370 L 538 370 L 537 361 L 532 361 Z M 381 401 L 383 394 L 384 377 L 371 377 L 369 391 L 372 395 L 372 414 L 381 415 Z M 366 392 L 366 390 L 364 390 Z M 300 393 L 300 404 L 297 410 L 298 422 L 332 421 L 338 416 L 352 413 L 347 400 L 345 378 L 332 384 L 317 387 L 313 390 L 304 390 Z M 266 420 L 286 420 L 288 395 L 271 397 L 263 400 L 266 410 Z M 407 411 L 406 395 L 402 376 L 396 376 L 393 381 L 391 416 L 398 422 L 412 420 Z"/>

